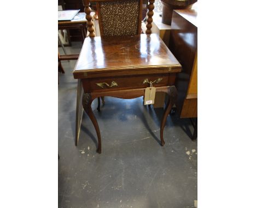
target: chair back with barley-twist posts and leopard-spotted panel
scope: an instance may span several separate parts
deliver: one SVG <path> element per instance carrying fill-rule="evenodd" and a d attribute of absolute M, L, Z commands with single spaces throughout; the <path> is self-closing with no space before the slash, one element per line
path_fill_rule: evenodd
<path fill-rule="evenodd" d="M 151 33 L 154 1 L 149 0 L 146 33 Z M 89 36 L 94 37 L 90 2 L 96 2 L 101 36 L 141 34 L 142 0 L 83 0 Z"/>

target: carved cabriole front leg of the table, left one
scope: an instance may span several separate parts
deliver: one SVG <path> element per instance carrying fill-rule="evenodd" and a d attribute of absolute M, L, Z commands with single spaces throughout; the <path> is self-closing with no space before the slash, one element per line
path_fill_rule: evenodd
<path fill-rule="evenodd" d="M 84 93 L 83 94 L 83 108 L 84 111 L 88 114 L 89 118 L 91 119 L 92 124 L 94 125 L 94 128 L 96 130 L 97 133 L 97 137 L 98 137 L 98 149 L 97 152 L 101 153 L 101 133 L 100 133 L 100 129 L 98 127 L 98 123 L 97 120 L 95 118 L 94 112 L 91 109 L 91 93 Z"/>

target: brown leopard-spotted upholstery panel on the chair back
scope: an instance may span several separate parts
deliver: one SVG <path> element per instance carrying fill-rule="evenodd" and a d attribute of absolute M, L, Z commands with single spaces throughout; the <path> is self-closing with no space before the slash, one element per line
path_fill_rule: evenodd
<path fill-rule="evenodd" d="M 100 2 L 104 36 L 138 33 L 139 0 Z"/>

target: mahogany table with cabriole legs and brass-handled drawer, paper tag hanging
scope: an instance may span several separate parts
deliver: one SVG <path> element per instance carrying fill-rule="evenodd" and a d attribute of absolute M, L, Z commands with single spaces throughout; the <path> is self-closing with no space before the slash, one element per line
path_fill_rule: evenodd
<path fill-rule="evenodd" d="M 156 91 L 169 95 L 160 127 L 161 145 L 164 145 L 164 126 L 176 101 L 174 82 L 181 69 L 181 64 L 156 34 L 86 38 L 73 71 L 74 78 L 78 79 L 75 145 L 84 109 L 94 124 L 97 152 L 101 153 L 100 129 L 91 109 L 94 99 L 101 96 L 140 97 L 150 82 Z"/>

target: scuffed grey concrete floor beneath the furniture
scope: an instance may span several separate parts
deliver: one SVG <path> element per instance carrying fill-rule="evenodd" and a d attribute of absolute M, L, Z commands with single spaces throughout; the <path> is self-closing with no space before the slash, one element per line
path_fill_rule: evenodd
<path fill-rule="evenodd" d="M 66 49 L 79 53 L 81 46 L 74 42 Z M 197 142 L 190 139 L 189 119 L 169 115 L 161 146 L 164 109 L 143 106 L 142 97 L 106 97 L 98 112 L 96 99 L 102 154 L 96 153 L 96 131 L 85 113 L 75 146 L 75 62 L 63 61 L 66 74 L 59 74 L 59 207 L 194 207 Z"/>

